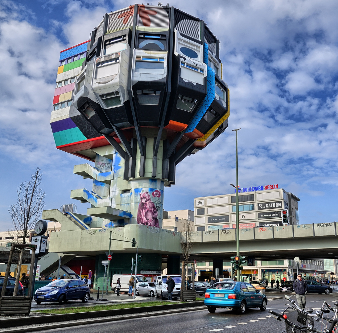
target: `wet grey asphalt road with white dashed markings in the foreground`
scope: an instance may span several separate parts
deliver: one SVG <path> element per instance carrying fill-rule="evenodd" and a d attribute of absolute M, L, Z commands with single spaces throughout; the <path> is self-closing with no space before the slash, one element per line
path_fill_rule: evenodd
<path fill-rule="evenodd" d="M 295 299 L 294 294 L 289 295 Z M 334 302 L 338 301 L 338 294 L 308 294 L 307 307 L 320 309 L 324 300 L 333 306 Z M 86 325 L 85 329 L 83 326 L 77 326 L 48 330 L 48 332 L 72 333 L 84 330 L 86 333 L 278 333 L 285 330 L 285 324 L 277 321 L 268 313 L 268 310 L 283 312 L 287 308 L 285 303 L 288 303 L 285 299 L 270 300 L 266 311 L 247 309 L 244 315 L 218 308 L 215 313 L 209 313 L 208 310 L 199 310 L 138 319 L 125 319 L 107 324 L 91 324 Z M 323 330 L 323 326 L 320 323 L 316 323 L 315 327 Z"/>

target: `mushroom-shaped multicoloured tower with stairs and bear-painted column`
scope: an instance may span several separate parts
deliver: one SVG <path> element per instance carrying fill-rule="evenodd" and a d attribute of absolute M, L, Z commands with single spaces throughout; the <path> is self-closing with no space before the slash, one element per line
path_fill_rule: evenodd
<path fill-rule="evenodd" d="M 95 162 L 74 167 L 92 189 L 81 228 L 162 227 L 175 167 L 227 127 L 220 42 L 204 21 L 169 6 L 104 15 L 89 40 L 60 54 L 51 128 L 56 147 Z"/>

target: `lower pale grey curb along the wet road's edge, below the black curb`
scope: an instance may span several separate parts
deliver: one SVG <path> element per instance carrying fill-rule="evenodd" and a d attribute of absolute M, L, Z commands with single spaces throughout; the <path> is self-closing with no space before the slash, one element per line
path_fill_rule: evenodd
<path fill-rule="evenodd" d="M 134 308 L 135 309 L 135 308 Z M 74 327 L 74 326 L 81 326 L 81 325 L 89 325 L 89 324 L 98 324 L 98 323 L 107 323 L 107 322 L 115 322 L 118 320 L 126 320 L 126 319 L 134 319 L 134 318 L 142 318 L 142 317 L 154 317 L 159 315 L 166 315 L 171 313 L 180 313 L 180 312 L 190 312 L 190 311 L 198 311 L 198 310 L 206 310 L 206 307 L 203 306 L 194 306 L 182 309 L 172 309 L 167 310 L 165 313 L 161 312 L 146 312 L 143 314 L 132 314 L 132 315 L 122 315 L 122 316 L 115 316 L 115 317 L 102 317 L 102 318 L 93 318 L 93 319 L 80 319 L 80 320 L 72 320 L 64 323 L 48 323 L 48 325 L 31 325 L 27 327 L 17 327 L 11 328 L 11 333 L 25 333 L 25 332 L 36 332 L 36 331 L 44 331 L 48 329 L 57 329 L 57 328 L 66 328 L 66 327 Z M 111 310 L 105 310 L 111 311 Z M 95 311 L 98 312 L 98 311 Z M 50 318 L 50 316 L 48 316 Z M 54 316 L 53 316 L 54 317 Z M 1 322 L 0 322 L 1 323 Z M 8 332 L 8 330 L 0 329 L 0 332 Z"/>

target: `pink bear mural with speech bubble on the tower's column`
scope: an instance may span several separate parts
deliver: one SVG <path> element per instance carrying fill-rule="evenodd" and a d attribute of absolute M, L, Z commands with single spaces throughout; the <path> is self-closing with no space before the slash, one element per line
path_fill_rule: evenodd
<path fill-rule="evenodd" d="M 154 195 L 155 192 L 156 194 Z M 153 196 L 159 198 L 161 192 L 156 190 L 153 192 Z M 159 220 L 157 218 L 159 213 L 158 210 L 159 207 L 156 208 L 155 204 L 151 201 L 149 192 L 141 192 L 139 209 L 137 211 L 137 224 L 145 224 L 150 227 L 160 228 Z"/>

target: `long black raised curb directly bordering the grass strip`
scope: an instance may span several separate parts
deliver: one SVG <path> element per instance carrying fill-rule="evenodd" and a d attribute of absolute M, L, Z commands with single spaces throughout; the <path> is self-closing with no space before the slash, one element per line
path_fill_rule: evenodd
<path fill-rule="evenodd" d="M 41 315 L 34 317 L 24 317 L 24 318 L 14 318 L 14 319 L 0 319 L 0 327 L 2 328 L 10 328 L 10 327 L 18 327 L 18 326 L 28 326 L 28 325 L 38 325 L 38 324 L 50 324 L 51 320 L 53 322 L 70 322 L 74 320 L 86 320 L 86 323 L 89 322 L 90 318 L 100 318 L 100 317 L 112 317 L 111 320 L 119 320 L 119 316 L 123 315 L 135 315 L 138 313 L 146 313 L 146 312 L 154 312 L 155 315 L 159 315 L 159 313 L 163 313 L 166 310 L 177 310 L 180 309 L 189 309 L 190 311 L 195 310 L 196 307 L 204 306 L 203 301 L 195 301 L 192 303 L 179 303 L 179 304 L 167 304 L 167 305 L 154 305 L 154 306 L 146 306 L 146 307 L 135 307 L 135 308 L 126 308 L 126 309 L 114 309 L 114 310 L 100 310 L 100 311 L 92 311 L 92 312 L 77 312 L 77 313 L 69 313 L 69 314 L 50 314 L 50 315 Z M 164 313 L 166 314 L 166 313 Z M 129 316 L 130 317 L 130 316 Z M 61 324 L 60 324 L 61 325 Z M 44 329 L 46 326 L 43 326 Z M 57 326 L 53 325 L 54 328 Z M 64 327 L 64 326 L 60 326 Z M 13 330 L 11 330 L 12 332 Z M 1 330 L 0 330 L 1 332 Z M 18 331 L 19 332 L 19 331 Z M 26 332 L 26 331 L 22 331 Z M 27 331 L 28 332 L 28 331 Z"/>

